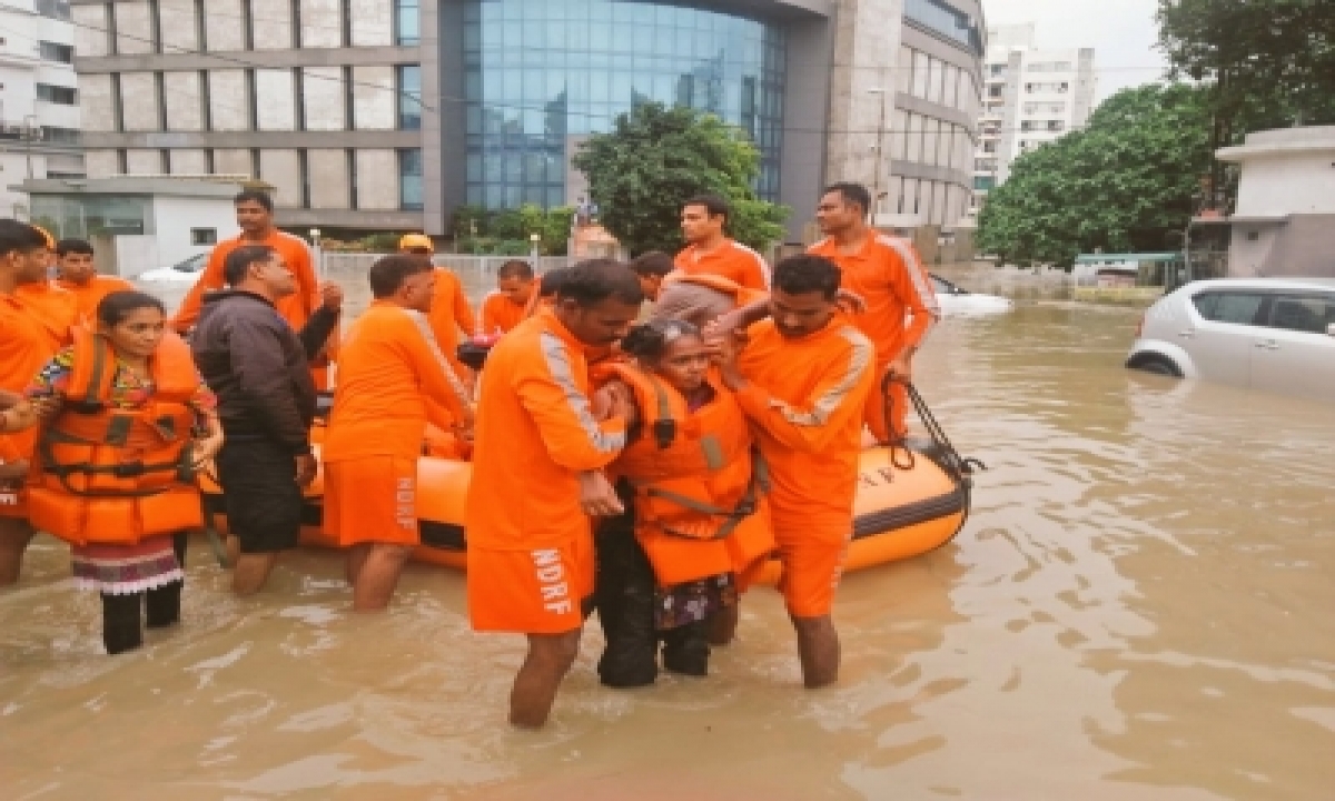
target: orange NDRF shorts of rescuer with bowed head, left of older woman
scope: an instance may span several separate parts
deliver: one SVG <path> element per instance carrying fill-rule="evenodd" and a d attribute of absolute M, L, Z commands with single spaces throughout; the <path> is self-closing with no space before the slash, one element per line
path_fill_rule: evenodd
<path fill-rule="evenodd" d="M 593 598 L 591 534 L 531 550 L 469 546 L 469 621 L 475 631 L 563 634 Z"/>

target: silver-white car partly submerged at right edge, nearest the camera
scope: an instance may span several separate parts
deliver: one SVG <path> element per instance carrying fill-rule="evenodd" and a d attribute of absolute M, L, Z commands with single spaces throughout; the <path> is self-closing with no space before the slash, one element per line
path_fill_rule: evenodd
<path fill-rule="evenodd" d="M 1127 367 L 1335 400 L 1335 278 L 1189 283 L 1145 311 Z"/>

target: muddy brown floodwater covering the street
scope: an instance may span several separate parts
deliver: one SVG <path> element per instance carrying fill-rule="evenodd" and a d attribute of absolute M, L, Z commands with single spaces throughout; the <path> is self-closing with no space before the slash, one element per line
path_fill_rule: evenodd
<path fill-rule="evenodd" d="M 603 689 L 590 625 L 515 733 L 522 641 L 469 631 L 462 574 L 352 617 L 335 553 L 238 601 L 203 539 L 183 625 L 109 658 L 41 538 L 0 590 L 0 796 L 1335 798 L 1335 410 L 1128 372 L 1137 311 L 1017 294 L 917 360 L 991 470 L 953 543 L 845 579 L 834 689 L 761 589 L 708 680 Z"/>

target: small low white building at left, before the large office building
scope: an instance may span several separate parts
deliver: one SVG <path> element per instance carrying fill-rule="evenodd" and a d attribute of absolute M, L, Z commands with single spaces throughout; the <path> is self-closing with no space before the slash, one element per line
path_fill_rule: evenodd
<path fill-rule="evenodd" d="M 32 220 L 59 238 L 93 243 L 97 270 L 134 278 L 210 252 L 240 232 L 232 196 L 243 176 L 216 179 L 33 179 Z"/>

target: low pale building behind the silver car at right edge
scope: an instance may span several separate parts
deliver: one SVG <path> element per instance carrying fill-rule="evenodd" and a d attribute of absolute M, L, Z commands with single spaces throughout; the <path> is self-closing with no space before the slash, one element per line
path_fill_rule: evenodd
<path fill-rule="evenodd" d="M 1228 275 L 1335 278 L 1335 127 L 1259 131 L 1216 155 L 1242 171 L 1236 208 L 1193 226 L 1231 228 Z"/>

